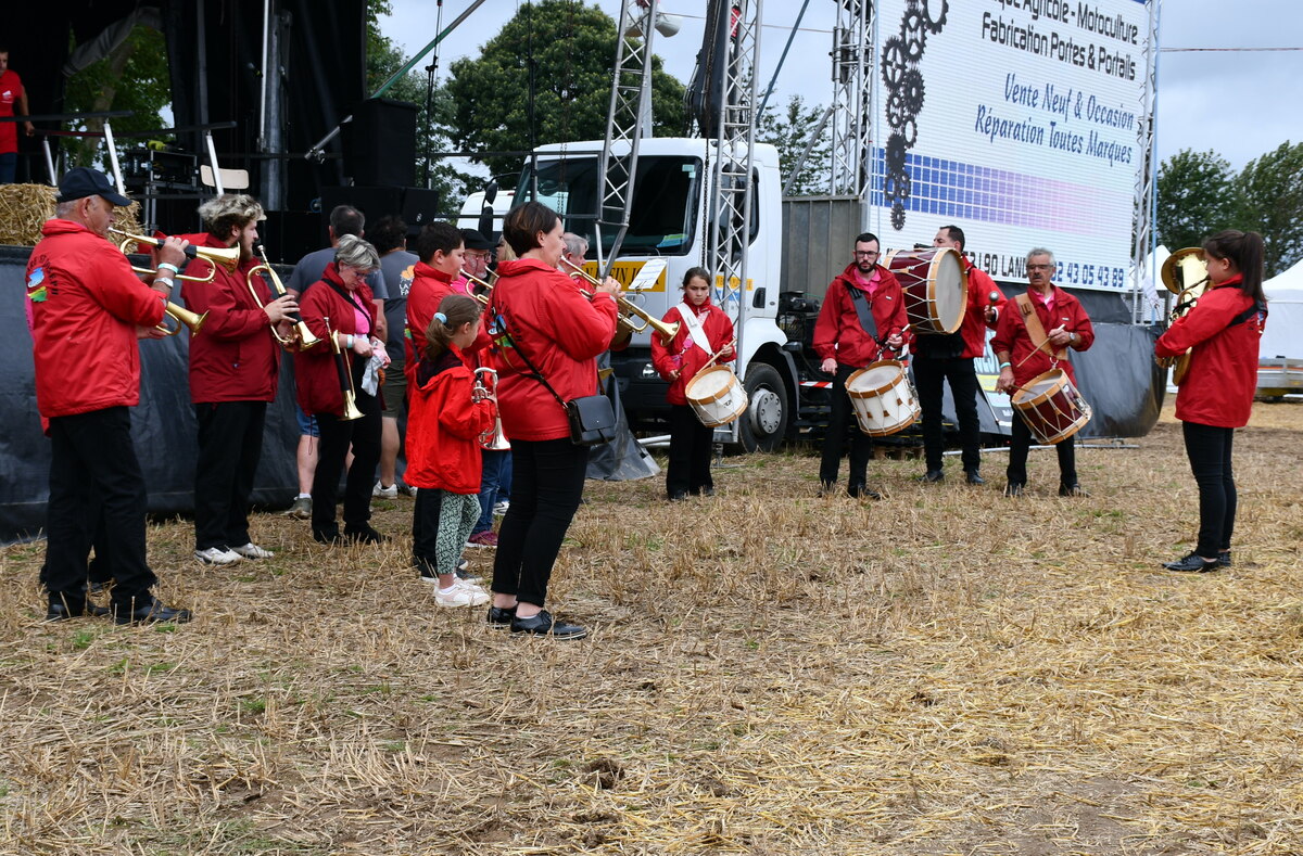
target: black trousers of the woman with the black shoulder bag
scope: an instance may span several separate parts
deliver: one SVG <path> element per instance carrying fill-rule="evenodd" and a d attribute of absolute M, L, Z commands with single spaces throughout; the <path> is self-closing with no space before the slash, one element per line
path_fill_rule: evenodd
<path fill-rule="evenodd" d="M 511 441 L 511 505 L 498 529 L 493 591 L 542 606 L 566 529 L 584 496 L 588 448 L 568 437 Z"/>

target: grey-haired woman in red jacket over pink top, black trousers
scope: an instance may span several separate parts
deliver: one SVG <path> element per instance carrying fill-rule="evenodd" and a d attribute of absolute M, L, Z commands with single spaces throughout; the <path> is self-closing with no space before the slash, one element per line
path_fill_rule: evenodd
<path fill-rule="evenodd" d="M 304 291 L 300 315 L 323 345 L 294 354 L 294 381 L 298 406 L 317 416 L 321 441 L 313 474 L 313 537 L 322 544 L 341 540 L 377 544 L 384 537 L 371 528 L 371 485 L 380 462 L 380 398 L 378 388 L 364 382 L 367 364 L 375 355 L 388 363 L 384 340 L 375 333 L 375 304 L 366 276 L 380 267 L 380 256 L 357 235 L 344 235 L 335 248 L 335 260 L 322 278 Z M 330 319 L 330 329 L 326 327 Z M 354 403 L 362 416 L 344 419 L 344 390 L 336 368 L 334 336 L 349 366 Z M 335 522 L 339 476 L 348 450 L 353 463 L 344 485 L 344 535 Z"/>

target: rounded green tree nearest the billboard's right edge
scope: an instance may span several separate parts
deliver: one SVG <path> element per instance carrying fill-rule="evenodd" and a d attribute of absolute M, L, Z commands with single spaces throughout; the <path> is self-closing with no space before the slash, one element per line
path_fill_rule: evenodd
<path fill-rule="evenodd" d="M 1158 242 L 1175 252 L 1230 228 L 1239 219 L 1233 180 L 1230 164 L 1214 151 L 1183 148 L 1162 161 L 1154 216 Z"/>

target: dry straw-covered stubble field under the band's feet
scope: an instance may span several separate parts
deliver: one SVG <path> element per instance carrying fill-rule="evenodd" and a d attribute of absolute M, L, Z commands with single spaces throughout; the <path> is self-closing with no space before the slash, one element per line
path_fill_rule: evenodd
<path fill-rule="evenodd" d="M 180 627 L 47 624 L 0 553 L 4 853 L 1300 853 L 1303 403 L 1237 436 L 1233 568 L 1162 571 L 1196 494 L 1170 406 L 1061 500 L 816 498 L 809 451 L 718 496 L 589 483 L 554 578 L 577 643 L 438 609 L 388 545 L 259 514 L 266 562 L 151 527 Z M 288 453 L 287 453 L 288 454 Z M 470 550 L 487 571 L 491 550 Z"/>

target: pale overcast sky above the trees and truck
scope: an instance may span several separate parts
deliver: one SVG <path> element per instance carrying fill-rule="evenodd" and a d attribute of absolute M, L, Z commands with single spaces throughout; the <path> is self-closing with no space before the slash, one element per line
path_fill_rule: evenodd
<path fill-rule="evenodd" d="M 592 0 L 590 0 L 592 1 Z M 973 0 L 955 0 L 971 3 Z M 470 5 L 446 0 L 443 26 Z M 523 0 L 489 0 L 439 46 L 440 77 L 448 64 L 474 56 L 496 35 Z M 612 18 L 618 0 L 597 0 Z M 674 38 L 657 38 L 655 52 L 666 69 L 687 82 L 701 44 L 704 0 L 662 0 L 662 12 L 683 16 Z M 380 21 L 384 35 L 409 56 L 438 35 L 437 0 L 392 0 L 394 14 Z M 778 65 L 783 44 L 801 4 L 769 0 L 761 35 L 761 86 Z M 826 105 L 833 96 L 831 27 L 834 0 L 810 0 L 791 55 L 779 72 L 770 103 L 782 104 L 791 94 L 807 103 Z M 1166 51 L 1158 62 L 1158 156 L 1182 148 L 1214 150 L 1237 169 L 1281 143 L 1303 142 L 1303 111 L 1296 95 L 1303 79 L 1303 49 L 1178 52 L 1171 48 L 1303 47 L 1303 3 L 1298 0 L 1164 0 L 1160 43 Z M 614 59 L 614 57 L 612 57 Z M 429 64 L 426 57 L 418 70 Z"/>

